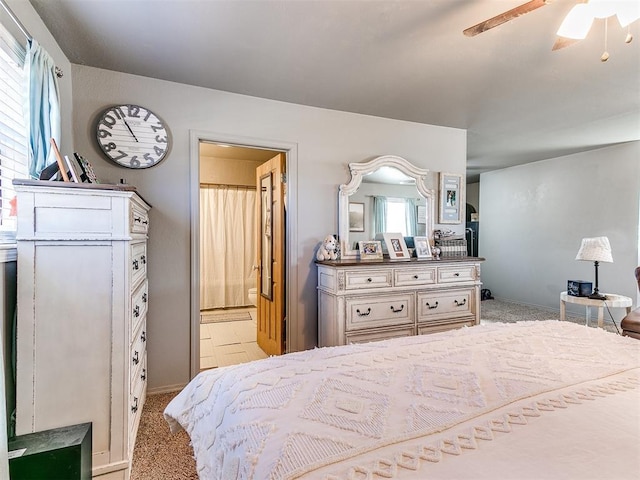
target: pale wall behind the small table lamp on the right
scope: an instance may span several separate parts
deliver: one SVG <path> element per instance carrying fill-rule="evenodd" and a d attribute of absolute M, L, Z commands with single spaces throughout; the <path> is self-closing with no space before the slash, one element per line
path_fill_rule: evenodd
<path fill-rule="evenodd" d="M 635 300 L 639 159 L 640 142 L 632 142 L 482 174 L 484 286 L 497 298 L 559 310 L 567 280 L 595 281 L 593 262 L 574 260 L 582 238 L 604 235 L 614 263 L 600 264 L 600 290 Z"/>

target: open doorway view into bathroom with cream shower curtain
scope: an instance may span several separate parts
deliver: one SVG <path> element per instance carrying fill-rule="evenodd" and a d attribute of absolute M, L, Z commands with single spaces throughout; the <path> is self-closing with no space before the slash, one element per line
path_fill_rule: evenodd
<path fill-rule="evenodd" d="M 267 357 L 257 340 L 256 171 L 280 152 L 200 142 L 200 370 Z"/>

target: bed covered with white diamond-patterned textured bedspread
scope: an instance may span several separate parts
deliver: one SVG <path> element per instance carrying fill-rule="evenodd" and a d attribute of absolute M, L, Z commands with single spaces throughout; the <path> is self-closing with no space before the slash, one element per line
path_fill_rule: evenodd
<path fill-rule="evenodd" d="M 201 479 L 638 479 L 640 342 L 479 325 L 196 376 L 164 412 Z"/>

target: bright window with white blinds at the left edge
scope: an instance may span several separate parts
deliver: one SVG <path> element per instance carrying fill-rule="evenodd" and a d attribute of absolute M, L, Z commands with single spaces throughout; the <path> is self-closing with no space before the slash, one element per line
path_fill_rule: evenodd
<path fill-rule="evenodd" d="M 28 178 L 23 114 L 25 50 L 0 24 L 0 241 L 15 237 L 14 178 Z"/>

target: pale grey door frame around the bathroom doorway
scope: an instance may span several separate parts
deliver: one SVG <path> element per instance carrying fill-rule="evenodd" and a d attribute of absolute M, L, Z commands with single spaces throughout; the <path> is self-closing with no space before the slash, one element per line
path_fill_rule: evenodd
<path fill-rule="evenodd" d="M 277 150 L 285 154 L 287 187 L 285 235 L 285 308 L 286 352 L 299 350 L 301 322 L 298 315 L 298 144 L 280 140 L 230 135 L 200 130 L 189 132 L 189 197 L 191 211 L 191 285 L 190 285 L 190 379 L 200 371 L 200 142 L 223 143 L 236 147 Z"/>

